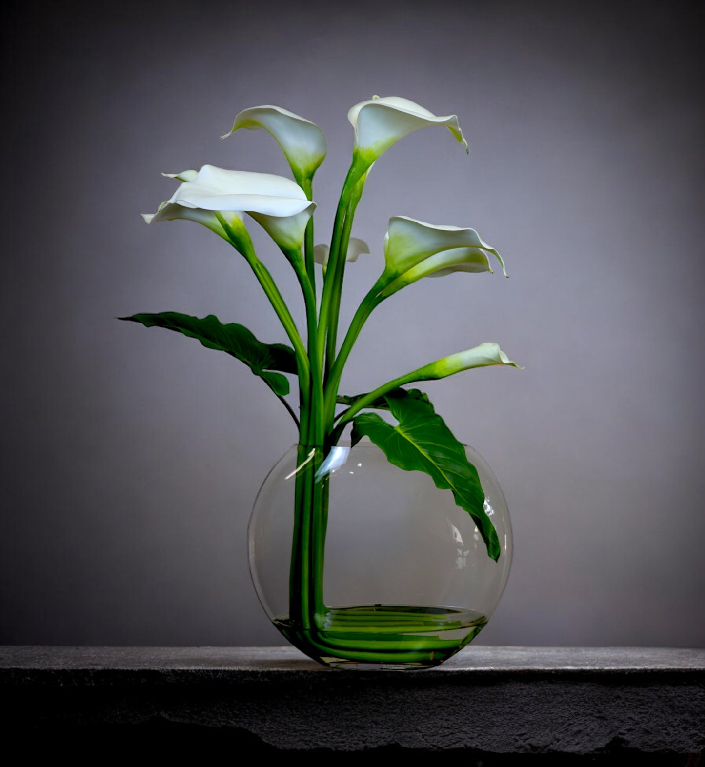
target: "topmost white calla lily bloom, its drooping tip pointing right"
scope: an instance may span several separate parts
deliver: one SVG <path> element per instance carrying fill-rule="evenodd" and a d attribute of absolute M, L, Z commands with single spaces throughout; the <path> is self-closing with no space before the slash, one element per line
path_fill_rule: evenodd
<path fill-rule="evenodd" d="M 348 112 L 348 120 L 355 129 L 354 150 L 361 164 L 360 173 L 392 144 L 414 130 L 430 125 L 445 126 L 468 149 L 456 115 L 438 117 L 420 104 L 399 96 L 361 101 Z"/>

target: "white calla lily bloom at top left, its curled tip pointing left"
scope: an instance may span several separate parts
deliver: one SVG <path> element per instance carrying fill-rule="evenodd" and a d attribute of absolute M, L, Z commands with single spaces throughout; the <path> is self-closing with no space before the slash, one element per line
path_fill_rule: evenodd
<path fill-rule="evenodd" d="M 264 128 L 282 148 L 294 178 L 301 185 L 311 181 L 325 159 L 327 147 L 323 131 L 311 120 L 282 107 L 265 104 L 243 110 L 236 116 L 230 133 L 221 138 L 231 136 L 240 128 Z"/>

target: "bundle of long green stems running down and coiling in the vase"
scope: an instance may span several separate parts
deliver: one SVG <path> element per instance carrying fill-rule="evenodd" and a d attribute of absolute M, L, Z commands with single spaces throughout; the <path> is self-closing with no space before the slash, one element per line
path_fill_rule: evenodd
<path fill-rule="evenodd" d="M 302 378 L 301 423 L 295 470 L 294 532 L 289 571 L 289 614 L 278 627 L 303 652 L 316 660 L 399 666 L 433 666 L 453 655 L 484 625 L 467 615 L 437 607 L 360 605 L 326 607 L 324 604 L 325 537 L 328 528 L 330 479 L 321 472 L 338 442 L 352 407 L 335 426 L 335 404 L 344 365 L 354 342 L 374 308 L 381 303 L 381 279 L 362 301 L 337 352 L 338 318 L 344 268 L 357 203 L 364 176 L 351 166 L 345 179 L 329 250 L 320 314 L 315 297 L 312 223 L 306 230 L 305 252 L 286 252 L 295 268 L 305 299 L 308 331 L 307 367 Z M 311 186 L 305 186 L 311 199 Z M 357 403 L 356 403 L 357 405 Z M 479 617 L 482 618 L 481 616 Z M 466 637 L 451 637 L 461 627 L 472 627 Z M 446 632 L 446 634 L 444 634 Z M 461 632 L 462 633 L 462 632 Z"/>

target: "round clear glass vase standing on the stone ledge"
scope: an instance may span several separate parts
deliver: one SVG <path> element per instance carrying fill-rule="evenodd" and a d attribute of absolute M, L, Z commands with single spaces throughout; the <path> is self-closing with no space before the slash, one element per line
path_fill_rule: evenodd
<path fill-rule="evenodd" d="M 331 667 L 437 666 L 486 625 L 502 596 L 512 530 L 502 490 L 466 447 L 502 551 L 423 472 L 367 438 L 327 455 L 295 445 L 269 472 L 249 524 L 249 565 L 269 618 Z"/>

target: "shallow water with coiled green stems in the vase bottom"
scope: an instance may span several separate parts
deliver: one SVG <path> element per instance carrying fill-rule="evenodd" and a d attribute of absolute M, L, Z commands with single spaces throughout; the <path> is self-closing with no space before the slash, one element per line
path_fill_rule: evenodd
<path fill-rule="evenodd" d="M 325 607 L 310 629 L 288 616 L 274 624 L 324 666 L 384 671 L 438 666 L 469 644 L 486 622 L 483 615 L 458 607 L 357 604 Z"/>

